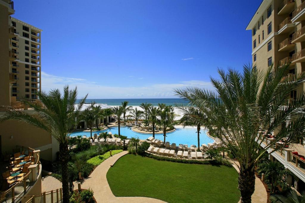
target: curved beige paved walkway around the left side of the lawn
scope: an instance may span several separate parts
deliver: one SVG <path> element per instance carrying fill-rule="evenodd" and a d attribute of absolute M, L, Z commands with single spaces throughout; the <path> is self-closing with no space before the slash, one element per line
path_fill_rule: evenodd
<path fill-rule="evenodd" d="M 107 171 L 113 164 L 122 156 L 128 154 L 128 151 L 120 152 L 112 157 L 106 159 L 103 163 L 95 168 L 95 170 L 84 180 L 74 182 L 74 188 L 77 188 L 77 183 L 81 182 L 82 189 L 88 189 L 89 187 L 94 192 L 95 200 L 99 202 L 164 202 L 154 198 L 147 198 L 147 197 L 116 197 L 113 195 L 107 178 L 106 174 Z M 128 187 L 128 185 L 126 185 Z"/>

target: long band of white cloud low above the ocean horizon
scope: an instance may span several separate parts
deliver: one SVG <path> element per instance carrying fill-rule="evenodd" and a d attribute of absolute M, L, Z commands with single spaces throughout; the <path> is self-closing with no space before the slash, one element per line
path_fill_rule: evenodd
<path fill-rule="evenodd" d="M 68 78 L 50 75 L 41 72 L 41 87 L 44 91 L 51 89 L 63 89 L 68 84 L 70 88 L 77 86 L 78 97 L 81 98 L 89 93 L 90 99 L 111 99 L 111 98 L 173 98 L 173 89 L 185 88 L 188 86 L 196 86 L 199 88 L 213 89 L 210 82 L 191 80 L 181 81 L 170 84 L 151 84 L 144 86 L 114 86 L 103 83 L 91 82 L 81 78 Z"/>

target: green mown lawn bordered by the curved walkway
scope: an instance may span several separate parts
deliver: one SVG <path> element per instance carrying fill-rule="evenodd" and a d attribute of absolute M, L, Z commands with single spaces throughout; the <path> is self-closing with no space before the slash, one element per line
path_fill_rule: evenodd
<path fill-rule="evenodd" d="M 232 167 L 157 161 L 127 154 L 107 173 L 117 197 L 151 197 L 166 202 L 239 201 L 238 173 Z"/>

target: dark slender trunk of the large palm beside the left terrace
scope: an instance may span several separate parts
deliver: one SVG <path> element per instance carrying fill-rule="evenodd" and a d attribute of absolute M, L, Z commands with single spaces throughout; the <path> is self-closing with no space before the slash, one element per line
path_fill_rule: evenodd
<path fill-rule="evenodd" d="M 61 162 L 61 176 L 63 186 L 63 203 L 69 203 L 69 177 L 68 177 L 68 145 L 67 143 L 59 144 L 59 160 Z"/>

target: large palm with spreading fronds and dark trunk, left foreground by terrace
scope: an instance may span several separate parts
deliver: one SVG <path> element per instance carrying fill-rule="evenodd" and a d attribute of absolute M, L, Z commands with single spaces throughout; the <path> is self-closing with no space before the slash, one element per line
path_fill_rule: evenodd
<path fill-rule="evenodd" d="M 75 105 L 77 100 L 77 88 L 63 88 L 63 94 L 59 89 L 53 89 L 49 93 L 39 91 L 36 93 L 40 103 L 32 103 L 24 100 L 28 107 L 35 111 L 35 114 L 28 114 L 26 111 L 5 107 L 0 122 L 6 120 L 18 120 L 32 124 L 50 133 L 59 143 L 59 161 L 62 167 L 63 202 L 69 202 L 69 177 L 68 177 L 68 137 L 72 131 L 71 126 L 75 126 L 81 107 L 85 103 L 87 95 Z"/>

